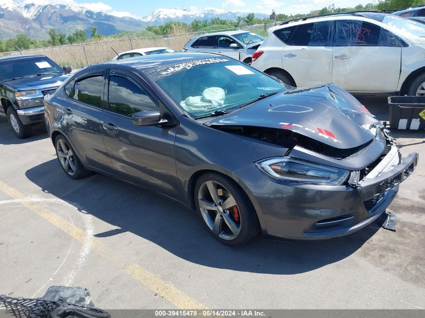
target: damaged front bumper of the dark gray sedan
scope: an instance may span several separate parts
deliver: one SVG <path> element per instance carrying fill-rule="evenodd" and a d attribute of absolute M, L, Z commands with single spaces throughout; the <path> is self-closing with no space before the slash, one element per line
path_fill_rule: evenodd
<path fill-rule="evenodd" d="M 356 186 L 310 185 L 267 177 L 254 164 L 230 176 L 250 197 L 264 234 L 297 240 L 328 239 L 356 232 L 390 205 L 400 182 L 415 169 L 412 153 L 390 171 Z"/>

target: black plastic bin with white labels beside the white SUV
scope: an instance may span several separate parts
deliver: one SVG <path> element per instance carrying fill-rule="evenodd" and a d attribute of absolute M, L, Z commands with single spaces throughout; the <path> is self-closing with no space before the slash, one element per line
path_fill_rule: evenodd
<path fill-rule="evenodd" d="M 391 129 L 425 129 L 425 96 L 391 96 L 388 105 Z"/>

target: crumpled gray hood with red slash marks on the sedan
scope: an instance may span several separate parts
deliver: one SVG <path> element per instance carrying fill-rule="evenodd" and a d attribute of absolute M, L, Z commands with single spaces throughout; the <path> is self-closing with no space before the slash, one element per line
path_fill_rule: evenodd
<path fill-rule="evenodd" d="M 380 125 L 350 93 L 334 84 L 295 88 L 205 123 L 290 130 L 337 149 L 357 148 L 375 135 L 362 125 Z"/>

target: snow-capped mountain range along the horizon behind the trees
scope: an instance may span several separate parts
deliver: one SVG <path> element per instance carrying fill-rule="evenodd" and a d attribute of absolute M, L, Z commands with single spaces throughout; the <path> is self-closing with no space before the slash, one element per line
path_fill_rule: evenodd
<path fill-rule="evenodd" d="M 194 20 L 212 18 L 236 20 L 246 13 L 231 12 L 214 8 L 157 9 L 144 18 L 117 17 L 105 12 L 94 12 L 75 5 L 24 4 L 17 0 L 0 0 L 0 39 L 14 38 L 25 33 L 33 39 L 47 39 L 47 31 L 54 28 L 59 33 L 69 35 L 75 30 L 90 34 L 91 27 L 98 32 L 112 35 L 122 31 L 141 31 L 149 25 L 160 25 L 168 21 L 191 23 Z M 259 18 L 265 15 L 256 15 Z"/>

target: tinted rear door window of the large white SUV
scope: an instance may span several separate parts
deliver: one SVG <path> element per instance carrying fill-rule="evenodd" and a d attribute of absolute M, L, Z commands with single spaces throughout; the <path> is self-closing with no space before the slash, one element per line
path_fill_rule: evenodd
<path fill-rule="evenodd" d="M 330 46 L 333 21 L 323 21 L 299 25 L 293 45 Z"/>

